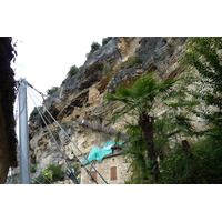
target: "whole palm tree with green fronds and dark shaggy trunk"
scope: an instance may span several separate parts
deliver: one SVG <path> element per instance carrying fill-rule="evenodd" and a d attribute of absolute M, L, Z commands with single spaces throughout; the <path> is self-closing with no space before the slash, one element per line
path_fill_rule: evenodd
<path fill-rule="evenodd" d="M 169 97 L 174 97 L 172 85 L 178 80 L 159 81 L 155 73 L 148 73 L 138 79 L 131 89 L 120 87 L 115 94 L 108 94 L 107 99 L 120 101 L 123 108 L 113 114 L 113 119 L 130 114 L 137 117 L 138 125 L 142 130 L 145 141 L 147 155 L 153 169 L 154 180 L 158 181 L 159 168 L 154 149 L 153 124 L 157 103 L 163 104 Z M 174 94 L 173 94 L 174 93 Z"/>

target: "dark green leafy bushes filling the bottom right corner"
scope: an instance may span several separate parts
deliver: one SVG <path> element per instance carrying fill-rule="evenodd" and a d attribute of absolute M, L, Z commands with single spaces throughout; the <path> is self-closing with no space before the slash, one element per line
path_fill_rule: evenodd
<path fill-rule="evenodd" d="M 203 139 L 192 147 L 192 155 L 182 149 L 172 151 L 161 162 L 161 183 L 170 184 L 221 184 L 222 149 L 212 147 L 211 138 Z M 214 149 L 212 149 L 214 148 Z"/>

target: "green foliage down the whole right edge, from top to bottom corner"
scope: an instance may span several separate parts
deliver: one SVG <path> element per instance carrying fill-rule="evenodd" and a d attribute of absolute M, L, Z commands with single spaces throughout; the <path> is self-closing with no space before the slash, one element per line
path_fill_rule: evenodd
<path fill-rule="evenodd" d="M 189 64 L 191 94 L 200 102 L 194 113 L 208 130 L 191 145 L 192 155 L 181 149 L 161 162 L 162 183 L 222 183 L 222 38 L 189 38 L 184 61 Z"/>

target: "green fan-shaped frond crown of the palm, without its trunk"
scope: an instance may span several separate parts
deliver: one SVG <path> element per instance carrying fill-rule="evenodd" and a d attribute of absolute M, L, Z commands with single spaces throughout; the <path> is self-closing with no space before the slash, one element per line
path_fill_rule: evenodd
<path fill-rule="evenodd" d="M 168 99 L 171 87 L 176 81 L 165 80 L 160 82 L 155 78 L 155 73 L 148 73 L 138 79 L 130 89 L 119 87 L 115 94 L 105 97 L 108 100 L 120 101 L 124 104 L 123 109 L 115 112 L 112 119 L 114 120 L 125 113 L 140 117 L 142 112 L 151 112 L 158 98 L 164 94 L 164 100 Z"/>

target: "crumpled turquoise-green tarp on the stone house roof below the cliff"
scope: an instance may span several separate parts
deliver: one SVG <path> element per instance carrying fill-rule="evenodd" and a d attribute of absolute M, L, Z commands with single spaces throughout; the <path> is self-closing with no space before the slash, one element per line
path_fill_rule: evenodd
<path fill-rule="evenodd" d="M 117 144 L 122 145 L 124 142 L 118 142 Z M 102 159 L 112 153 L 112 147 L 115 144 L 115 142 L 107 141 L 102 148 L 92 148 L 89 155 L 88 161 L 83 162 L 82 165 L 87 165 L 93 160 L 97 160 L 98 162 L 102 162 Z"/>

